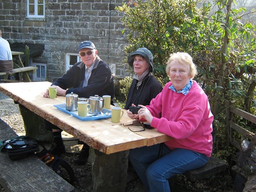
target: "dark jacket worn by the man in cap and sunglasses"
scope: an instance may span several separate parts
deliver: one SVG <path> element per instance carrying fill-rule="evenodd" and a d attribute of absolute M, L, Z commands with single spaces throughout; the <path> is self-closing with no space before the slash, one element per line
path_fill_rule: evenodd
<path fill-rule="evenodd" d="M 111 104 L 113 104 L 114 80 L 108 64 L 100 60 L 100 62 L 94 66 L 86 87 L 83 87 L 84 72 L 84 63 L 77 62 L 66 74 L 58 78 L 52 84 L 62 89 L 68 89 L 66 94 L 73 92 L 79 97 L 89 98 L 94 95 L 110 95 Z"/>

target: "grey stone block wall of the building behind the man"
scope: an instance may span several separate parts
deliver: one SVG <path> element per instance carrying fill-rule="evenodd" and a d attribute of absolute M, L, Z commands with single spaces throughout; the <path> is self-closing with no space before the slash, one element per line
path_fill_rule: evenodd
<path fill-rule="evenodd" d="M 44 44 L 43 54 L 33 62 L 47 64 L 47 81 L 65 71 L 65 53 L 77 53 L 81 41 L 92 41 L 98 55 L 113 74 L 123 77 L 128 67 L 120 18 L 115 10 L 123 0 L 45 0 L 45 18 L 26 17 L 27 0 L 1 0 L 0 29 L 10 43 Z M 128 2 L 128 0 L 127 0 Z"/>

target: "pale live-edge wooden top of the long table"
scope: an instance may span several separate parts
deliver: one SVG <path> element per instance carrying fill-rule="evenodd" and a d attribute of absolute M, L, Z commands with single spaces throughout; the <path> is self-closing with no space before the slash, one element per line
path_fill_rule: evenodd
<path fill-rule="evenodd" d="M 123 123 L 133 121 L 124 109 L 120 123 L 112 123 L 111 118 L 81 121 L 72 117 L 54 107 L 55 104 L 65 103 L 65 96 L 57 96 L 54 99 L 43 97 L 43 93 L 50 85 L 51 82 L 0 83 L 0 91 L 40 117 L 106 154 L 150 146 L 171 139 L 156 129 L 140 132 L 128 130 L 128 127 L 138 130 L 138 126 L 123 126 Z"/>

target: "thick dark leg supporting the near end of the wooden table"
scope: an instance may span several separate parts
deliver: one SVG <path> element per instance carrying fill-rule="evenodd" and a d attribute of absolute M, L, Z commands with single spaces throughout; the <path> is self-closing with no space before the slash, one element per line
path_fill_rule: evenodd
<path fill-rule="evenodd" d="M 94 192 L 125 192 L 129 150 L 107 155 L 90 148 Z"/>

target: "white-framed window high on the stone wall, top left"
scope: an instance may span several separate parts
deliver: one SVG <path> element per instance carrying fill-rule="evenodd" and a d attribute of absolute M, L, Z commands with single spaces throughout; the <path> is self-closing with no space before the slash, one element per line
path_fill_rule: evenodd
<path fill-rule="evenodd" d="M 27 17 L 44 18 L 44 0 L 27 0 Z"/>

